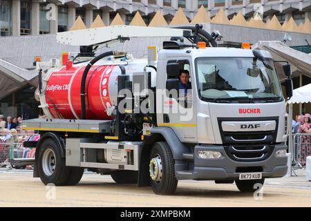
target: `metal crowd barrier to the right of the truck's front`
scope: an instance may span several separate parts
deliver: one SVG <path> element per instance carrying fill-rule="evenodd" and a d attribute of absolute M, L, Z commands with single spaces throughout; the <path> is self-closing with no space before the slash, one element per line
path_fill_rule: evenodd
<path fill-rule="evenodd" d="M 307 157 L 311 155 L 311 134 L 296 133 L 292 135 L 293 160 L 292 169 L 305 168 Z"/>

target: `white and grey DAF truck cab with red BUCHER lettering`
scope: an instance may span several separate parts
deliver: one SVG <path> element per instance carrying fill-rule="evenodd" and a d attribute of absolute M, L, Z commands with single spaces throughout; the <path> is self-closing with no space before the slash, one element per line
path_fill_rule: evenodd
<path fill-rule="evenodd" d="M 191 79 L 187 107 L 179 97 L 157 98 L 157 106 L 164 106 L 157 113 L 158 126 L 177 137 L 166 139 L 172 146 L 178 140 L 191 152 L 191 157 L 183 155 L 193 160 L 183 171 L 175 167 L 178 180 L 236 180 L 241 191 L 251 191 L 255 182 L 287 173 L 285 99 L 271 55 L 260 53 L 263 61 L 253 50 L 239 48 L 159 52 L 157 88 L 171 89 L 167 81 L 173 74 L 167 72 L 173 63 L 189 70 Z"/>

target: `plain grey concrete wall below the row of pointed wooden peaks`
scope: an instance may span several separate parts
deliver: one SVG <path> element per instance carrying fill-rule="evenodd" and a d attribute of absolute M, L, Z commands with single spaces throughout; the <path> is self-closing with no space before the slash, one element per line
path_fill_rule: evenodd
<path fill-rule="evenodd" d="M 282 41 L 285 35 L 284 31 L 279 30 L 267 30 L 260 28 L 247 28 L 243 26 L 232 25 L 220 25 L 216 23 L 204 23 L 203 28 L 207 32 L 214 32 L 219 30 L 223 35 L 221 44 L 223 41 L 232 42 L 250 42 L 255 44 L 258 41 Z M 311 42 L 310 34 L 303 34 L 298 32 L 290 32 L 292 41 L 288 41 L 288 46 L 301 46 L 305 45 L 305 39 Z M 113 46 L 113 50 L 131 52 L 135 58 L 142 58 L 147 56 L 147 46 L 162 47 L 161 37 L 151 38 L 132 38 L 130 41 L 125 41 L 122 44 Z M 168 39 L 166 39 L 168 40 Z M 78 46 L 67 46 L 64 44 L 58 44 L 56 42 L 56 35 L 30 35 L 21 37 L 0 37 L 0 61 L 6 61 L 12 66 L 25 69 L 25 72 L 18 69 L 12 70 L 19 74 L 26 80 L 30 80 L 35 75 L 31 74 L 30 70 L 33 68 L 32 62 L 35 56 L 41 56 L 42 60 L 47 61 L 53 57 L 60 57 L 61 52 L 79 52 Z M 97 53 L 107 48 L 97 50 Z M 1 63 L 0 66 L 4 64 Z M 8 64 L 6 64 L 8 68 Z M 10 69 L 10 68 L 8 68 Z M 29 74 L 26 74 L 29 73 Z"/>

